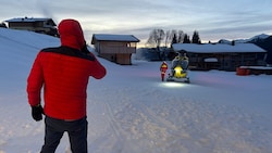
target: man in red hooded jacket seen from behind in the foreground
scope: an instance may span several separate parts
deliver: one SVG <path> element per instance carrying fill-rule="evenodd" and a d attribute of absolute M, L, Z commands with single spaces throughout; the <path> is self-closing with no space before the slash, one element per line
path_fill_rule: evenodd
<path fill-rule="evenodd" d="M 42 49 L 33 64 L 27 79 L 28 103 L 35 120 L 46 115 L 41 153 L 54 153 L 65 131 L 72 152 L 87 153 L 86 89 L 89 76 L 101 79 L 106 68 L 87 50 L 77 21 L 63 20 L 58 28 L 61 46 Z"/>

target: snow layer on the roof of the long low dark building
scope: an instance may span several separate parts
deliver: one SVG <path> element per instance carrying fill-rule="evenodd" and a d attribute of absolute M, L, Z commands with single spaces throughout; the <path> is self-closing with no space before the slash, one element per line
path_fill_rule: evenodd
<path fill-rule="evenodd" d="M 224 44 L 224 43 L 207 43 L 207 44 L 196 44 L 196 43 L 174 43 L 172 44 L 174 51 L 185 50 L 187 52 L 195 53 L 225 53 L 225 52 L 267 52 L 260 47 L 254 43 L 235 43 Z"/>

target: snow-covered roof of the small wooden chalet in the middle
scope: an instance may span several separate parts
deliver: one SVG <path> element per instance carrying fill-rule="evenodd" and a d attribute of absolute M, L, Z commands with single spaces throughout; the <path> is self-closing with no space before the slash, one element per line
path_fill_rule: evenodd
<path fill-rule="evenodd" d="M 139 42 L 139 39 L 133 35 L 94 34 L 91 44 L 94 44 L 96 41 Z"/>

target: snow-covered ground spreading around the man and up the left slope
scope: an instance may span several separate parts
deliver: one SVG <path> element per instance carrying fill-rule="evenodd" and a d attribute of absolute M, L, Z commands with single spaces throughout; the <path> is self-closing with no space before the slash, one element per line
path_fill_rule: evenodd
<path fill-rule="evenodd" d="M 0 153 L 38 153 L 26 78 L 39 49 L 59 39 L 0 28 Z M 161 82 L 160 62 L 122 66 L 100 59 L 108 75 L 88 86 L 91 153 L 271 153 L 272 76 L 189 72 L 191 84 Z M 69 152 L 64 135 L 58 153 Z"/>

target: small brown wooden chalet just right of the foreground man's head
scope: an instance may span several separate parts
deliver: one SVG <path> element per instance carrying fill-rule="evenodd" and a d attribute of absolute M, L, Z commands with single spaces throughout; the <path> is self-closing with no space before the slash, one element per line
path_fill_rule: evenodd
<path fill-rule="evenodd" d="M 139 39 L 133 35 L 94 34 L 91 44 L 98 55 L 122 65 L 131 65 Z"/>

